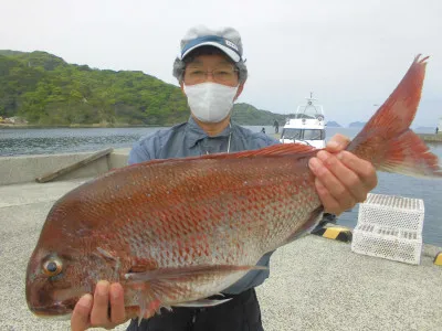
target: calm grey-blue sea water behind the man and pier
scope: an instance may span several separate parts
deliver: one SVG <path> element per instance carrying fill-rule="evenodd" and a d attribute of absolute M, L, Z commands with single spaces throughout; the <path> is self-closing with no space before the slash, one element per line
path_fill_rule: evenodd
<path fill-rule="evenodd" d="M 257 132 L 262 127 L 248 128 Z M 127 148 L 140 137 L 158 129 L 160 128 L 0 129 L 0 157 L 92 151 L 107 147 Z M 267 134 L 274 132 L 270 126 L 265 127 L 265 130 Z M 355 137 L 359 129 L 328 128 L 327 137 L 336 132 Z M 430 145 L 430 147 L 442 160 L 442 145 Z M 425 205 L 423 241 L 427 244 L 442 246 L 442 180 L 379 173 L 379 184 L 373 193 L 422 199 Z M 352 211 L 339 216 L 338 223 L 354 227 L 357 216 L 358 207 L 356 206 Z"/>

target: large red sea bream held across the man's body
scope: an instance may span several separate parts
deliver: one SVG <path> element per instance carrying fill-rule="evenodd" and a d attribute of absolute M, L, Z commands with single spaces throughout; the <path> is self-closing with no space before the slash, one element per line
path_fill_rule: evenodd
<path fill-rule="evenodd" d="M 348 147 L 377 170 L 442 177 L 438 158 L 409 129 L 424 61 L 414 60 Z M 123 285 L 128 317 L 221 292 L 322 218 L 307 167 L 317 152 L 293 143 L 155 160 L 78 186 L 54 204 L 42 228 L 28 265 L 29 308 L 67 314 L 99 279 Z"/>

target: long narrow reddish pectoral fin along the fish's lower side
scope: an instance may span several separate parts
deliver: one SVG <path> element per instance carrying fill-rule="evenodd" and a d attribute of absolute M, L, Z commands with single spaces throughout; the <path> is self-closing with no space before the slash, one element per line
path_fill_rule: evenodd
<path fill-rule="evenodd" d="M 152 281 L 167 279 L 182 279 L 204 274 L 231 274 L 235 271 L 266 270 L 263 266 L 233 266 L 233 265 L 202 265 L 180 268 L 158 268 L 143 273 L 128 273 L 127 280 Z"/>

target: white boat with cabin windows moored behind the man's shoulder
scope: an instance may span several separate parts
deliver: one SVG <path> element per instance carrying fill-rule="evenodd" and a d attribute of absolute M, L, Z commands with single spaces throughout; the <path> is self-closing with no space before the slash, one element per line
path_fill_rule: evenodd
<path fill-rule="evenodd" d="M 320 105 L 316 105 L 316 99 L 311 97 L 306 98 L 306 105 L 299 105 L 296 109 L 296 114 L 287 118 L 284 125 L 283 131 L 281 132 L 280 141 L 282 143 L 305 143 L 315 148 L 325 147 L 325 129 L 326 121 L 324 115 L 324 108 Z"/>

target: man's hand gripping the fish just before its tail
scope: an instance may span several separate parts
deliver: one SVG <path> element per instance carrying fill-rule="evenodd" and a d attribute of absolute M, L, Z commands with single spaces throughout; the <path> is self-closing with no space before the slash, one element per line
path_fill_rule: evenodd
<path fill-rule="evenodd" d="M 347 137 L 335 135 L 326 149 L 308 161 L 324 210 L 335 215 L 365 201 L 378 184 L 373 166 L 344 150 L 349 142 Z"/>

